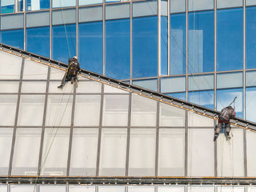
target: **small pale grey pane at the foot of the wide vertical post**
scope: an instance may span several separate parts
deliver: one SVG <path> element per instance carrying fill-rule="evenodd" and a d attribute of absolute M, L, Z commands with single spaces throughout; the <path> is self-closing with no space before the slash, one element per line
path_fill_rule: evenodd
<path fill-rule="evenodd" d="M 170 77 L 161 79 L 161 93 L 186 91 L 186 77 Z"/>

